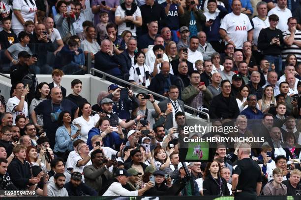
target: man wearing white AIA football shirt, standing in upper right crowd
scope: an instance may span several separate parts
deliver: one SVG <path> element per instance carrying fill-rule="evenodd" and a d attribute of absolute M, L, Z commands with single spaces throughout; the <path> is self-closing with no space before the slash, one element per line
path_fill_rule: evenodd
<path fill-rule="evenodd" d="M 233 0 L 231 8 L 232 12 L 224 17 L 220 25 L 219 34 L 236 49 L 242 49 L 243 42 L 252 41 L 252 25 L 247 15 L 241 13 L 240 0 Z"/>

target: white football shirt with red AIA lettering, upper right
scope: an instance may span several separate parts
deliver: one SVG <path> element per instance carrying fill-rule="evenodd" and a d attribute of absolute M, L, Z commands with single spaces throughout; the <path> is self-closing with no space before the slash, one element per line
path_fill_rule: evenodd
<path fill-rule="evenodd" d="M 233 12 L 227 14 L 220 28 L 224 29 L 236 45 L 236 49 L 242 49 L 242 44 L 247 41 L 248 31 L 252 29 L 247 15 L 235 15 Z"/>

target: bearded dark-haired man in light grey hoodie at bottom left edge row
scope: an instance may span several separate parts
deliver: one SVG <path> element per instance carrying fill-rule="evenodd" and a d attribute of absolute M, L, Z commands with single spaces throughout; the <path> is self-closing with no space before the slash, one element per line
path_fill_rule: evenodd
<path fill-rule="evenodd" d="M 64 188 L 65 175 L 57 173 L 54 175 L 54 182 L 49 182 L 47 186 L 48 197 L 68 197 L 68 192 Z"/>

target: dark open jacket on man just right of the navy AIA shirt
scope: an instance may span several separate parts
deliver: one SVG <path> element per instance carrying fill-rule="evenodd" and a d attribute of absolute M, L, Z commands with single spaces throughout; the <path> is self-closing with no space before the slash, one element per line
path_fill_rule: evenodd
<path fill-rule="evenodd" d="M 193 15 L 196 21 L 196 26 L 198 32 L 203 30 L 203 24 L 206 22 L 206 16 L 203 14 L 202 10 L 193 11 Z M 190 23 L 190 11 L 187 8 L 184 8 L 184 14 L 180 15 L 180 27 L 187 26 L 189 27 Z"/>

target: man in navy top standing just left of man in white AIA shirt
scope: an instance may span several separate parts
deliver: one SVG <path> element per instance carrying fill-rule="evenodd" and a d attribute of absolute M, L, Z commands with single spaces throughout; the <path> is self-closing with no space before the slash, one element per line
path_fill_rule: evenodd
<path fill-rule="evenodd" d="M 218 4 L 217 4 L 218 3 Z M 207 4 L 207 5 L 206 5 Z M 206 33 L 208 42 L 212 45 L 213 49 L 221 52 L 222 47 L 220 44 L 220 35 L 218 33 L 221 20 L 227 15 L 227 9 L 224 7 L 223 2 L 219 0 L 207 0 L 204 3 L 204 15 L 206 16 L 206 23 L 204 32 Z"/>

